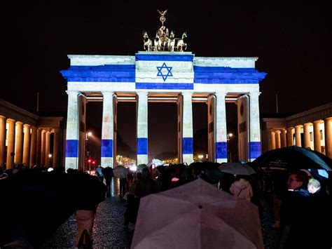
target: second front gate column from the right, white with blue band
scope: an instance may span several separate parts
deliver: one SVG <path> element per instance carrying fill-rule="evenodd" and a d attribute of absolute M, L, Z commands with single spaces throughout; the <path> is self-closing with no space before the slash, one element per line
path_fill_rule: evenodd
<path fill-rule="evenodd" d="M 227 162 L 226 93 L 216 93 L 216 162 Z"/>

